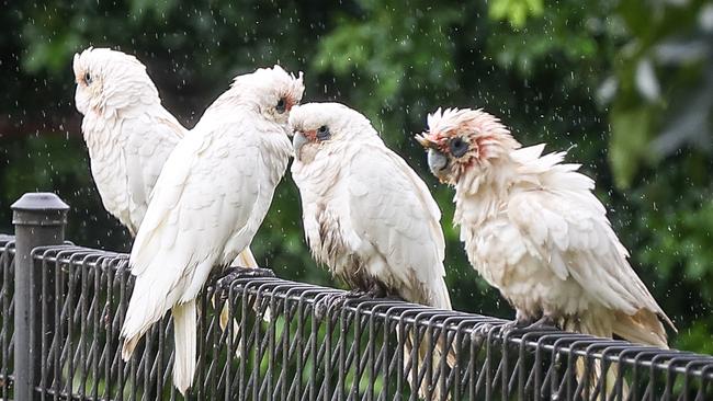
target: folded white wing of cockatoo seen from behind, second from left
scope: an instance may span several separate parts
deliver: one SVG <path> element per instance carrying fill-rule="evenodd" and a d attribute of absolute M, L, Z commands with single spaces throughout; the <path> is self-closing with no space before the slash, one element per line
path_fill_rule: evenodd
<path fill-rule="evenodd" d="M 124 334 L 143 333 L 174 303 L 195 298 L 211 268 L 252 240 L 264 217 L 253 209 L 269 204 L 274 184 L 250 136 L 225 134 L 244 125 L 191 133 L 166 162 L 132 249 L 137 278 Z"/>

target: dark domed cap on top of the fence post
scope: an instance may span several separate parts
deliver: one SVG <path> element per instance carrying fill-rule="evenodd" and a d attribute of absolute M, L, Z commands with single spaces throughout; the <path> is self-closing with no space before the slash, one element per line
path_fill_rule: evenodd
<path fill-rule="evenodd" d="M 12 206 L 12 224 L 20 226 L 60 226 L 67 222 L 69 205 L 50 192 L 31 192 Z"/>

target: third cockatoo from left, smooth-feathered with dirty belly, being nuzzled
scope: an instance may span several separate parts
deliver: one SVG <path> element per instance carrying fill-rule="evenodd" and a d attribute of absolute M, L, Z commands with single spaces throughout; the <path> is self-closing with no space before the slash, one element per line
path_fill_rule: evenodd
<path fill-rule="evenodd" d="M 315 259 L 352 289 L 451 309 L 441 211 L 423 181 L 366 117 L 342 104 L 297 106 L 290 128 L 292 176 Z"/>

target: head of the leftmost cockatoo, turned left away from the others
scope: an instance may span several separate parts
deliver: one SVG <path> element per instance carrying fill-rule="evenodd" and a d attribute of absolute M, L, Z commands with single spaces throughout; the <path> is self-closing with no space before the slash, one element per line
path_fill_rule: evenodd
<path fill-rule="evenodd" d="M 81 114 L 114 114 L 123 107 L 161 102 L 146 67 L 134 56 L 90 47 L 75 54 L 72 69 L 75 101 Z"/>

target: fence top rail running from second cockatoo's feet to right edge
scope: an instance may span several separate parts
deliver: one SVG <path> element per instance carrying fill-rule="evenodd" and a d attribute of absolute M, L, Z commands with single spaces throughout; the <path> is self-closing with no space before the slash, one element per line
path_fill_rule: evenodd
<path fill-rule="evenodd" d="M 326 293 L 342 291 L 281 278 L 237 278 L 229 284 L 220 283 L 227 298 L 242 294 L 256 297 L 256 302 L 295 302 L 317 308 Z M 218 289 L 220 290 L 220 289 Z M 513 329 L 500 331 L 508 320 L 489 316 L 441 310 L 395 299 L 349 299 L 326 316 L 339 318 L 341 313 L 359 313 L 365 319 L 374 318 L 392 324 L 437 330 L 439 335 L 482 337 L 489 344 L 505 344 L 527 352 L 548 354 L 574 354 L 581 357 L 623 363 L 640 369 L 666 374 L 686 374 L 713 380 L 713 356 L 687 351 L 663 350 L 655 346 L 630 343 L 623 340 L 596 337 L 570 333 L 556 328 Z M 326 317 L 325 317 L 326 318 Z M 445 330 L 443 330 L 445 328 Z M 505 342 L 505 343 L 503 343 Z"/>

